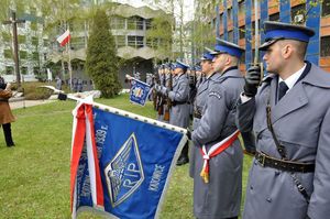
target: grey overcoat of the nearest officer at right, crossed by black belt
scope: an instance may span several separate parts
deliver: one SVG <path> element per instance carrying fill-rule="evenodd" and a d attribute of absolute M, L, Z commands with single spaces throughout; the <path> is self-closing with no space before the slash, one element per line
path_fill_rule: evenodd
<path fill-rule="evenodd" d="M 312 219 L 330 217 L 330 74 L 307 63 L 299 80 L 275 105 L 277 76 L 271 75 L 255 98 L 238 106 L 238 125 L 253 130 L 256 150 L 280 158 L 266 124 L 266 102 L 271 95 L 272 123 L 287 157 L 315 162 L 315 173 L 296 173 L 307 193 L 308 205 L 290 173 L 262 167 L 253 161 L 246 187 L 245 219 Z"/>

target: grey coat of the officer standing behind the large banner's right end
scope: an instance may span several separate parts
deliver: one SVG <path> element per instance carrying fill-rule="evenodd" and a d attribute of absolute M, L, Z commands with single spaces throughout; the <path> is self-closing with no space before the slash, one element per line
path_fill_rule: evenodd
<path fill-rule="evenodd" d="M 185 74 L 173 77 L 173 90 L 168 92 L 168 98 L 173 106 L 169 111 L 169 123 L 187 128 L 189 124 L 188 101 L 189 85 Z"/>

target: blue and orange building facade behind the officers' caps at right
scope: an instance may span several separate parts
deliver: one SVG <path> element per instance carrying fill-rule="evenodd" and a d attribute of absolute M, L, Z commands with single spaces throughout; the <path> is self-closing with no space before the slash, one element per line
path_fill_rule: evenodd
<path fill-rule="evenodd" d="M 216 9 L 217 35 L 245 47 L 241 62 L 241 68 L 245 69 L 253 63 L 255 54 L 254 1 L 224 0 Z M 312 28 L 316 35 L 309 42 L 306 59 L 330 72 L 330 0 L 260 0 L 257 18 L 261 30 L 258 42 L 264 41 L 264 21 L 299 23 Z"/>

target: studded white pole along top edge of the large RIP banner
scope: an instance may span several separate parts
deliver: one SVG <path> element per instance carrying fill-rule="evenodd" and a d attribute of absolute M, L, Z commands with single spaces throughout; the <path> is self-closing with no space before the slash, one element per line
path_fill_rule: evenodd
<path fill-rule="evenodd" d="M 144 123 L 148 123 L 148 124 L 153 124 L 153 125 L 156 125 L 156 127 L 161 127 L 161 128 L 164 128 L 164 129 L 167 129 L 167 130 L 170 130 L 170 131 L 175 131 L 175 132 L 179 132 L 179 133 L 183 133 L 183 134 L 187 133 L 187 130 L 183 129 L 180 127 L 176 127 L 176 125 L 173 125 L 173 124 L 161 122 L 161 121 L 157 121 L 157 120 L 154 120 L 154 119 L 150 119 L 150 118 L 140 116 L 140 114 L 134 114 L 132 112 L 120 110 L 120 109 L 117 109 L 117 108 L 113 108 L 113 107 L 109 107 L 109 106 L 106 106 L 106 105 L 101 105 L 101 103 L 95 102 L 95 101 L 92 101 L 92 100 L 90 100 L 88 98 L 87 99 L 82 99 L 82 98 L 79 98 L 79 97 L 75 97 L 73 95 L 67 95 L 67 98 L 72 99 L 72 100 L 76 100 L 76 101 L 81 102 L 81 103 L 91 105 L 92 107 L 101 109 L 103 111 L 108 111 L 108 112 L 111 112 L 111 113 L 114 113 L 114 114 L 127 117 L 127 118 L 130 118 L 130 119 L 133 119 L 133 120 L 138 120 L 138 121 L 144 122 Z"/>

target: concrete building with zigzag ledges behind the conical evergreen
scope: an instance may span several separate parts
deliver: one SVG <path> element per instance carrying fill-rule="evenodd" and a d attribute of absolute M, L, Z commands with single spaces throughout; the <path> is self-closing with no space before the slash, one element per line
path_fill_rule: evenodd
<path fill-rule="evenodd" d="M 145 80 L 147 73 L 153 73 L 153 66 L 156 61 L 168 58 L 168 53 L 162 53 L 162 41 L 155 37 L 148 37 L 148 31 L 152 22 L 157 18 L 170 20 L 173 17 L 162 10 L 150 7 L 134 8 L 129 4 L 116 4 L 114 10 L 109 13 L 111 32 L 116 41 L 117 55 L 121 59 L 119 78 L 124 88 L 130 85 L 125 84 L 125 75 L 140 73 L 141 79 Z M 165 20 L 166 20 L 165 19 Z M 169 25 L 169 23 L 166 23 Z M 73 78 L 89 81 L 89 77 L 84 70 L 86 61 L 88 23 L 81 22 L 70 25 L 72 40 L 68 51 L 64 51 L 55 42 L 51 54 L 51 61 L 59 65 L 65 61 L 67 68 L 68 59 L 72 61 Z M 69 53 L 69 54 L 68 54 Z M 57 68 L 58 69 L 58 68 Z M 65 70 L 67 78 L 68 69 Z"/>

